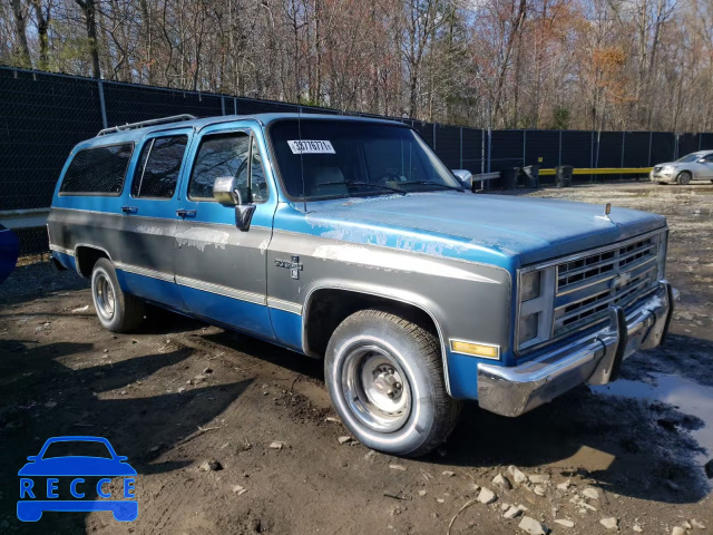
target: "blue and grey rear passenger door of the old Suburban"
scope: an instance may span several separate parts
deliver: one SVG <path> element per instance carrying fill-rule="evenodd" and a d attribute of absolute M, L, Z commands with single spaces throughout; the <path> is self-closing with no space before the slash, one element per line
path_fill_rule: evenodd
<path fill-rule="evenodd" d="M 124 198 L 120 241 L 123 282 L 130 293 L 184 310 L 174 279 L 178 183 L 192 129 L 147 136 Z M 129 181 L 127 181 L 129 182 Z"/>

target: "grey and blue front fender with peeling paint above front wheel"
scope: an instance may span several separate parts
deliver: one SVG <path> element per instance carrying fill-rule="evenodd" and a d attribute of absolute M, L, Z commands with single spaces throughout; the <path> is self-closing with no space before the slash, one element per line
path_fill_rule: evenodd
<path fill-rule="evenodd" d="M 301 313 L 307 353 L 304 329 L 311 300 L 318 290 L 334 289 L 424 311 L 439 331 L 453 397 L 477 396 L 480 359 L 453 353 L 451 340 L 498 346 L 501 358 L 510 354 L 511 276 L 502 268 L 284 231 L 273 234 L 266 260 L 268 302 L 280 301 L 284 308 L 292 303 Z"/>

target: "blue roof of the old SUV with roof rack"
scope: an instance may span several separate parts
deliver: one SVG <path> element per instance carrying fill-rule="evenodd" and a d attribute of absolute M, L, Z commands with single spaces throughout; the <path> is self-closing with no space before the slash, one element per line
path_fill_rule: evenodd
<path fill-rule="evenodd" d="M 371 117 L 355 117 L 349 115 L 330 115 L 330 114 L 294 114 L 294 113 L 279 113 L 279 114 L 246 114 L 246 115 L 218 115 L 214 117 L 203 117 L 191 120 L 176 120 L 172 123 L 162 123 L 159 125 L 147 125 L 138 128 L 131 128 L 127 130 L 110 132 L 102 135 L 97 135 L 90 139 L 86 139 L 77 145 L 76 148 L 86 148 L 88 146 L 100 145 L 114 145 L 117 143 L 136 142 L 147 134 L 155 132 L 163 132 L 174 128 L 197 128 L 203 129 L 207 126 L 218 125 L 224 123 L 232 123 L 235 120 L 254 120 L 263 126 L 267 126 L 271 123 L 280 119 L 329 119 L 329 120 L 352 120 L 360 123 L 378 123 L 388 125 L 400 125 L 408 127 L 403 123 L 390 119 L 380 119 Z M 118 125 L 121 126 L 121 125 Z"/>

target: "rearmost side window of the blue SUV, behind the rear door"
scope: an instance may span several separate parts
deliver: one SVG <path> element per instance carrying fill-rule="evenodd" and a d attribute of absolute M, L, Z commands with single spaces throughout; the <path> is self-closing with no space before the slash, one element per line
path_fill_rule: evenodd
<path fill-rule="evenodd" d="M 60 194 L 119 195 L 134 144 L 85 148 L 72 158 Z"/>

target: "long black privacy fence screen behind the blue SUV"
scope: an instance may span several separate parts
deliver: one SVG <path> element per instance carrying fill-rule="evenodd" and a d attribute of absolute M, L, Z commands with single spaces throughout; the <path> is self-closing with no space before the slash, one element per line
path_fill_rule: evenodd
<path fill-rule="evenodd" d="M 207 117 L 299 109 L 304 114 L 377 117 L 0 67 L 0 223 L 3 214 L 7 217 L 7 214 L 46 211 L 72 146 L 102 128 L 179 114 Z M 473 174 L 528 165 L 649 167 L 691 152 L 713 148 L 711 133 L 488 130 L 393 119 L 411 125 L 448 167 Z M 612 178 L 619 176 L 575 175 L 574 181 Z M 30 250 L 42 246 L 28 244 Z M 25 252 L 28 247 L 23 245 Z"/>

